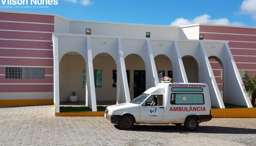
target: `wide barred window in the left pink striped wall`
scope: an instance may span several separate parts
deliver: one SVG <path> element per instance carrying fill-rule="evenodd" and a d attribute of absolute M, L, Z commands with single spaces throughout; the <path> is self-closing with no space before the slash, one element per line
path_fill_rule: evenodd
<path fill-rule="evenodd" d="M 6 67 L 5 78 L 45 78 L 45 68 Z"/>

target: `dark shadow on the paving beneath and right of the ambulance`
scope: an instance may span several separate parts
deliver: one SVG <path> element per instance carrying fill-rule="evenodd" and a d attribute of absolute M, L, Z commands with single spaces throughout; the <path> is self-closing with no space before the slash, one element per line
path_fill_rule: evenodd
<path fill-rule="evenodd" d="M 114 125 L 121 130 L 118 125 Z M 250 128 L 235 128 L 222 126 L 199 126 L 196 131 L 187 131 L 185 127 L 174 125 L 134 125 L 132 131 L 145 132 L 179 132 L 183 134 L 189 133 L 212 133 L 212 134 L 256 134 L 256 129 Z"/>

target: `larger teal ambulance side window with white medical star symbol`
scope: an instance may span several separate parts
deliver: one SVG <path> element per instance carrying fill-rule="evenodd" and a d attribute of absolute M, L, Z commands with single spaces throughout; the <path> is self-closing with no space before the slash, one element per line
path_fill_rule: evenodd
<path fill-rule="evenodd" d="M 204 104 L 202 93 L 172 93 L 171 104 Z"/>

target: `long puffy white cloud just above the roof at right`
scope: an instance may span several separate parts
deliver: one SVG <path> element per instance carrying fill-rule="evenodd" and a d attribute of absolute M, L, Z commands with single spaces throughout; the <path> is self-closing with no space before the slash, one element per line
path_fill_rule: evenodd
<path fill-rule="evenodd" d="M 184 18 L 177 18 L 175 19 L 170 25 L 171 26 L 183 26 L 189 24 L 218 24 L 218 25 L 233 25 L 233 26 L 243 26 L 243 23 L 240 22 L 230 22 L 227 18 L 220 18 L 220 19 L 211 19 L 211 16 L 204 14 L 201 16 L 197 16 L 193 20 L 188 20 Z"/>

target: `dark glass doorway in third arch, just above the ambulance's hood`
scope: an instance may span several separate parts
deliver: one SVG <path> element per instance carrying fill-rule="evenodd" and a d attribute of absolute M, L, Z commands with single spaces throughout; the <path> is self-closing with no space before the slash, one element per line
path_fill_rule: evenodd
<path fill-rule="evenodd" d="M 133 97 L 138 97 L 146 91 L 146 71 L 133 70 Z"/>

